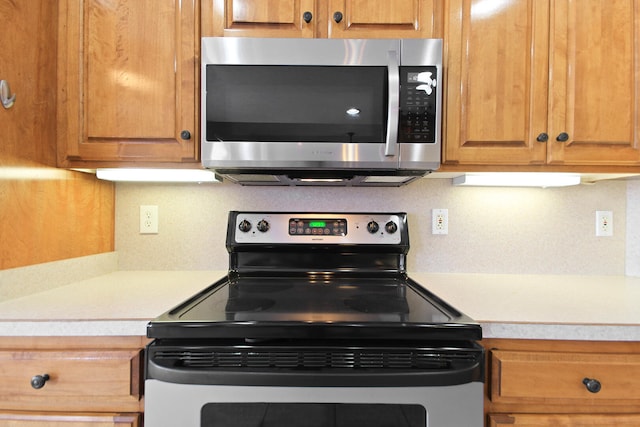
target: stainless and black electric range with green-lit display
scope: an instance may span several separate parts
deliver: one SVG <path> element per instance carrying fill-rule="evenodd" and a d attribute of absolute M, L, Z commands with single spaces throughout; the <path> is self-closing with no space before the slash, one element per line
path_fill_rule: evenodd
<path fill-rule="evenodd" d="M 145 425 L 483 425 L 480 326 L 407 275 L 405 213 L 237 212 L 228 275 L 148 325 Z"/>

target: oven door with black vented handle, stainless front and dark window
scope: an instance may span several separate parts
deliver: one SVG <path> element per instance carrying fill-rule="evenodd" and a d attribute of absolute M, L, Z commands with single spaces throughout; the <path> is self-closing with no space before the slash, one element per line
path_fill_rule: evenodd
<path fill-rule="evenodd" d="M 340 347 L 179 341 L 156 340 L 147 348 L 148 426 L 483 424 L 484 351 L 473 342 Z"/>

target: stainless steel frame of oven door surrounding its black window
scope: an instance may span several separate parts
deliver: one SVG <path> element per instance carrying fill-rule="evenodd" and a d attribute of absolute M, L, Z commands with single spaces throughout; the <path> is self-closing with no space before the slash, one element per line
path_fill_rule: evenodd
<path fill-rule="evenodd" d="M 201 408 L 210 402 L 309 402 L 418 404 L 427 412 L 425 427 L 481 427 L 483 387 L 238 387 L 147 380 L 145 425 L 201 427 Z"/>

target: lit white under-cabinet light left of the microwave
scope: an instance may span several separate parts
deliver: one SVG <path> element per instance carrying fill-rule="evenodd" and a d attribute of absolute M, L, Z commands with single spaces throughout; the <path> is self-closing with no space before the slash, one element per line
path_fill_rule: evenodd
<path fill-rule="evenodd" d="M 96 176 L 107 181 L 128 182 L 222 182 L 206 169 L 98 168 Z"/>

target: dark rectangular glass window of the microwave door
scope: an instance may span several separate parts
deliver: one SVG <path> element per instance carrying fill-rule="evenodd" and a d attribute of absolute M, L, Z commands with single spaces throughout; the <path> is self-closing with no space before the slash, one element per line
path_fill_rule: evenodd
<path fill-rule="evenodd" d="M 208 65 L 208 141 L 385 141 L 387 68 Z"/>

